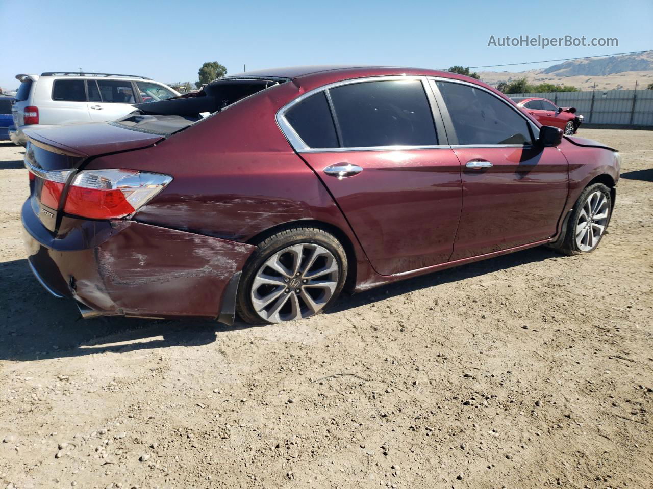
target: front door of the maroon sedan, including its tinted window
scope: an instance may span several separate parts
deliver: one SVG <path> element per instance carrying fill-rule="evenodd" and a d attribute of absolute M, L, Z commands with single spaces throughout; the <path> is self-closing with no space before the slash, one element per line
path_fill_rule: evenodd
<path fill-rule="evenodd" d="M 535 144 L 537 128 L 490 91 L 457 82 L 435 85 L 462 168 L 462 215 L 451 259 L 555 235 L 569 187 L 564 155 Z"/>

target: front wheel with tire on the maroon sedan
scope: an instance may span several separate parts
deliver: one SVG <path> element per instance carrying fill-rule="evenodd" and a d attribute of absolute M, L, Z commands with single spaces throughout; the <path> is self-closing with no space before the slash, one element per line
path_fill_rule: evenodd
<path fill-rule="evenodd" d="M 611 215 L 610 189 L 602 183 L 594 183 L 586 187 L 574 204 L 567 222 L 565 238 L 558 252 L 565 255 L 579 255 L 596 250 L 605 236 Z M 586 226 L 581 227 L 582 224 Z M 598 236 L 596 236 L 597 231 L 600 231 Z"/>

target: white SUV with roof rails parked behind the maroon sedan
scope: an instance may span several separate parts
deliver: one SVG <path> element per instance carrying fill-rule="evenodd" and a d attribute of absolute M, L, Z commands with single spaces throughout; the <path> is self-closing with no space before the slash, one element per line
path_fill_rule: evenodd
<path fill-rule="evenodd" d="M 22 131 L 25 126 L 36 129 L 113 121 L 135 110 L 133 104 L 180 95 L 144 76 L 46 72 L 16 78 L 21 84 L 12 106 L 14 126 L 9 128 L 9 137 L 20 145 L 27 143 Z"/>

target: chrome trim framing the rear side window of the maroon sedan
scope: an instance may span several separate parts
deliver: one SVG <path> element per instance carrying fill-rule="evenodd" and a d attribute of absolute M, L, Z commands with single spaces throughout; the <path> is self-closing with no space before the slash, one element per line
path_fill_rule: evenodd
<path fill-rule="evenodd" d="M 327 83 L 327 85 L 322 85 L 321 87 L 314 88 L 302 95 L 298 96 L 281 107 L 276 113 L 276 121 L 279 129 L 286 137 L 290 145 L 295 149 L 297 153 L 332 153 L 336 151 L 400 151 L 404 149 L 437 149 L 437 148 L 446 148 L 449 145 L 394 145 L 394 146 L 364 146 L 364 147 L 337 147 L 337 148 L 311 148 L 308 146 L 299 134 L 295 131 L 293 126 L 285 118 L 285 113 L 289 111 L 293 106 L 306 100 L 306 98 L 315 95 L 316 93 L 341 87 L 342 85 L 352 85 L 353 83 L 364 83 L 364 82 L 402 82 L 406 80 L 417 80 L 422 82 L 422 89 L 424 89 L 424 95 L 426 96 L 427 103 L 429 104 L 429 109 L 433 114 L 433 107 L 431 106 L 431 100 L 429 98 L 429 92 L 426 85 L 426 76 L 422 75 L 391 75 L 391 76 L 368 76 L 364 78 L 351 78 L 349 80 L 340 80 L 340 82 Z M 434 114 L 433 114 L 434 115 Z M 436 138 L 440 137 L 438 134 L 439 126 L 437 119 L 434 120 L 434 130 L 436 130 Z"/>

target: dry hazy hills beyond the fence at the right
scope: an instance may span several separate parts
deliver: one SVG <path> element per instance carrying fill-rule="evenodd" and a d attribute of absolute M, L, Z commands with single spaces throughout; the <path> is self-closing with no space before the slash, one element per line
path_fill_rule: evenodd
<path fill-rule="evenodd" d="M 479 75 L 483 82 L 494 86 L 525 76 L 529 83 L 573 85 L 581 90 L 592 90 L 595 83 L 597 90 L 631 90 L 636 81 L 637 88 L 643 89 L 653 82 L 653 53 L 575 59 L 542 70 L 483 71 Z"/>

